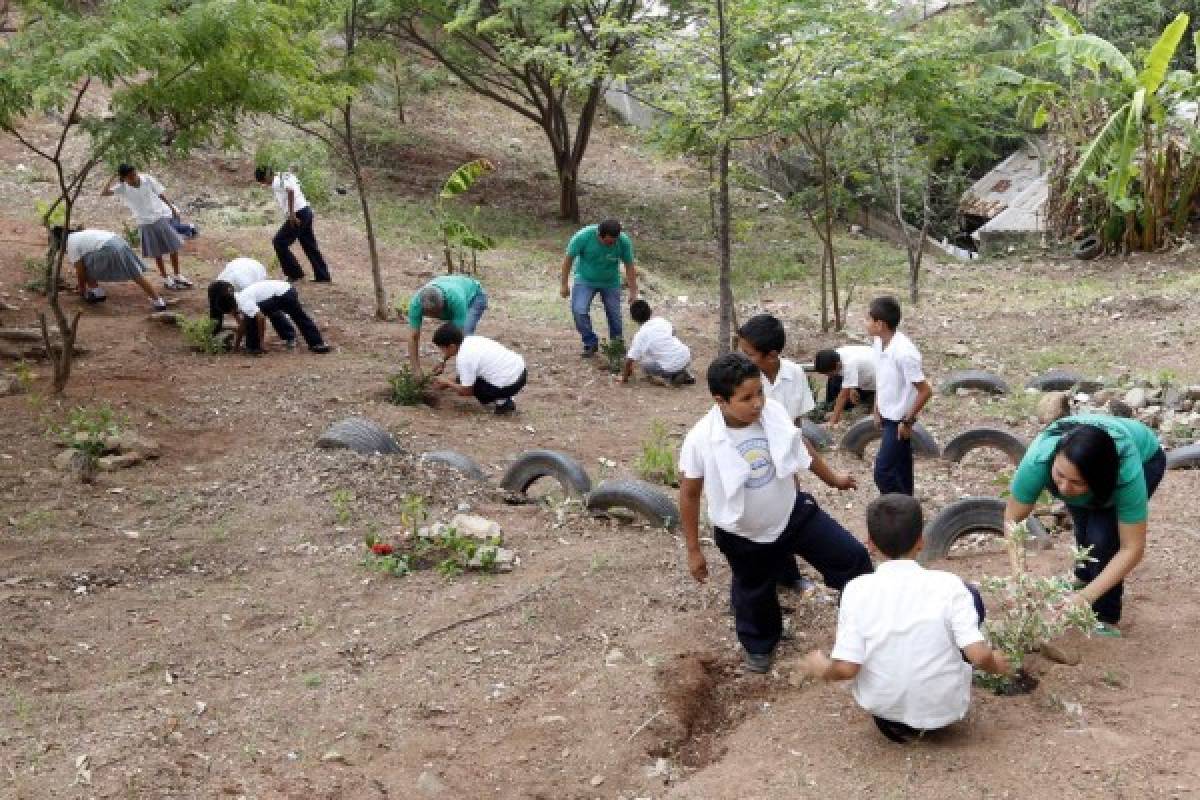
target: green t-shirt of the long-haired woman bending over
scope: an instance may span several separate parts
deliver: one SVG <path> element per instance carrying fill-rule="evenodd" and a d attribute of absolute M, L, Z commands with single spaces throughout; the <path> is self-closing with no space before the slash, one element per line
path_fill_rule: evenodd
<path fill-rule="evenodd" d="M 1145 522 L 1148 517 L 1147 503 L 1150 498 L 1146 493 L 1144 464 L 1154 457 L 1160 445 L 1153 431 L 1138 420 L 1122 416 L 1080 414 L 1048 426 L 1025 451 L 1025 457 L 1021 458 L 1021 464 L 1016 468 L 1016 474 L 1013 475 L 1013 499 L 1032 505 L 1037 503 L 1042 489 L 1050 489 L 1051 494 L 1057 495 L 1054 481 L 1050 480 L 1050 465 L 1054 462 L 1058 440 L 1062 439 L 1064 422 L 1094 425 L 1112 437 L 1121 465 L 1117 468 L 1117 485 L 1112 491 L 1110 505 L 1116 506 L 1118 522 L 1127 524 Z M 1088 492 L 1076 498 L 1062 498 L 1062 500 L 1073 506 L 1090 506 L 1092 505 L 1092 493 Z"/>

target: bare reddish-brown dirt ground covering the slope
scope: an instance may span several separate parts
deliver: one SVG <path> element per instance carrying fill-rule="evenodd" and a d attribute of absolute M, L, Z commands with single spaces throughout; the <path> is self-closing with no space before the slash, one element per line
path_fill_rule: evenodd
<path fill-rule="evenodd" d="M 794 638 L 770 675 L 746 675 L 715 549 L 713 577 L 697 587 L 677 536 L 556 503 L 506 505 L 491 488 L 419 464 L 420 452 L 455 449 L 485 464 L 494 482 L 516 453 L 551 447 L 575 455 L 594 479 L 632 474 L 653 420 L 682 435 L 710 402 L 701 386 L 622 386 L 581 365 L 557 297 L 570 229 L 548 215 L 553 180 L 539 134 L 508 116 L 458 119 L 454 108 L 414 109 L 412 143 L 382 157 L 395 170 L 379 178 L 391 181 L 389 199 L 421 201 L 466 157 L 500 164 L 482 188 L 485 207 L 533 233 L 502 239 L 485 257 L 491 309 L 480 332 L 526 354 L 530 383 L 520 414 L 384 401 L 404 327 L 372 319 L 365 246 L 347 198 L 318 217 L 336 283 L 300 284 L 332 355 L 277 347 L 257 360 L 193 354 L 176 330 L 146 319 L 136 289 L 112 287 L 106 305 L 83 309 L 90 353 L 66 396 L 48 396 L 48 369 L 37 367 L 30 393 L 0 399 L 0 796 L 1200 794 L 1195 473 L 1169 473 L 1152 503 L 1148 554 L 1127 589 L 1124 638 L 1084 642 L 1076 667 L 1034 661 L 1042 682 L 1032 694 L 977 690 L 964 723 L 898 747 L 844 686 L 796 673 L 803 652 L 832 643 L 828 595 L 785 596 Z M 428 146 L 445 131 L 456 132 L 452 149 Z M 0 299 L 19 311 L 2 321 L 29 325 L 38 299 L 19 288 L 22 261 L 40 255 L 41 243 L 28 209 L 48 190 L 18 173 L 30 162 L 4 148 Z M 215 197 L 250 216 L 270 212 L 250 167 L 248 158 L 220 156 L 155 172 L 185 203 Z M 679 277 L 712 264 L 696 234 L 702 174 L 605 127 L 584 181 L 589 211 L 632 221 L 650 299 L 702 369 L 715 351 L 713 291 Z M 743 198 L 744 213 L 756 213 L 756 200 Z M 97 198 L 83 212 L 109 229 L 124 219 L 119 204 Z M 271 225 L 222 225 L 197 213 L 204 231 L 185 265 L 202 287 L 232 254 L 270 252 Z M 421 235 L 419 215 L 380 216 L 385 278 L 403 295 L 434 273 L 438 249 Z M 774 212 L 760 219 L 760 230 L 784 227 Z M 904 327 L 935 381 L 950 368 L 982 366 L 1021 385 L 1061 362 L 1106 375 L 1169 369 L 1200 383 L 1192 261 L 1170 254 L 1087 265 L 936 264 L 920 306 L 906 306 Z M 862 330 L 864 297 L 900 291 L 902 257 L 893 253 L 888 264 L 858 288 L 851 331 Z M 791 354 L 808 360 L 817 347 L 846 341 L 820 333 L 814 285 L 802 276 L 743 287 L 740 313 L 782 315 Z M 203 313 L 203 288 L 178 296 L 182 309 Z M 103 403 L 158 439 L 163 456 L 80 486 L 53 469 L 56 447 L 46 431 L 74 405 Z M 1021 396 L 938 396 L 925 423 L 943 441 L 985 420 L 1030 437 L 1037 427 L 1028 411 Z M 394 431 L 406 455 L 316 450 L 317 435 L 348 415 Z M 814 494 L 863 536 L 870 464 L 828 457 L 860 488 L 814 486 Z M 1004 469 L 984 455 L 964 467 L 919 463 L 926 513 L 964 494 L 998 494 Z M 341 518 L 337 492 L 353 498 Z M 499 522 L 520 566 L 451 578 L 364 569 L 364 534 L 395 529 L 401 499 L 413 494 L 434 519 L 468 504 Z M 1066 569 L 1068 539 L 1058 534 L 1034 554 L 1036 567 Z M 977 578 L 1002 571 L 1004 560 L 984 548 L 942 566 Z"/>

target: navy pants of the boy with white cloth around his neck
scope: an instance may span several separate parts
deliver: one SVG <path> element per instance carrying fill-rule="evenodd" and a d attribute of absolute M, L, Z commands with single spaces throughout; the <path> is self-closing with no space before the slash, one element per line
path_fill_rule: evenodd
<path fill-rule="evenodd" d="M 714 540 L 733 571 L 730 593 L 733 620 L 746 652 L 772 652 L 779 644 L 784 613 L 775 582 L 780 565 L 793 555 L 811 564 L 824 584 L 838 591 L 874 569 L 863 543 L 804 492 L 796 493 L 787 528 L 775 541 L 754 542 L 720 528 L 715 529 Z"/>

